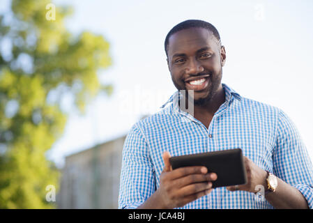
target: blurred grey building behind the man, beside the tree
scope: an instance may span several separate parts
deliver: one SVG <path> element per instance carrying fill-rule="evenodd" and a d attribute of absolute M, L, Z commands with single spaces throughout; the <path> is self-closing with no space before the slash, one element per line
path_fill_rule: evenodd
<path fill-rule="evenodd" d="M 125 137 L 66 157 L 57 208 L 118 208 Z"/>

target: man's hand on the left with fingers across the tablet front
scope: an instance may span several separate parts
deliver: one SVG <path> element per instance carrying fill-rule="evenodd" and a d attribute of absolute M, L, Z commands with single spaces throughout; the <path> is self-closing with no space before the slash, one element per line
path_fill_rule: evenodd
<path fill-rule="evenodd" d="M 208 174 L 206 167 L 183 167 L 171 169 L 169 152 L 163 153 L 165 167 L 160 175 L 160 187 L 155 192 L 164 208 L 185 206 L 212 191 L 214 173 Z"/>

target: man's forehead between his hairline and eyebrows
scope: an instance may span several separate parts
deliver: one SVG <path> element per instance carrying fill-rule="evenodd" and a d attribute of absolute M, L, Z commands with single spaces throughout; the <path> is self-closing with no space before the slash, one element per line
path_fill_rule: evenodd
<path fill-rule="evenodd" d="M 204 28 L 190 28 L 178 31 L 169 38 L 169 55 L 183 52 L 184 50 L 202 47 L 215 48 L 220 45 L 213 32 Z"/>

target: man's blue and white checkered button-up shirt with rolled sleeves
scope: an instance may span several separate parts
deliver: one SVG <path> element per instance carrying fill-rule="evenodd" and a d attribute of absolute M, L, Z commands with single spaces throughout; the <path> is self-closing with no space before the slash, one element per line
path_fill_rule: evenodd
<path fill-rule="evenodd" d="M 137 208 L 160 186 L 162 154 L 171 156 L 241 148 L 243 155 L 296 187 L 313 208 L 313 168 L 300 134 L 281 109 L 244 98 L 222 84 L 225 102 L 208 127 L 183 112 L 176 91 L 162 110 L 135 123 L 124 146 L 119 208 Z M 168 106 L 166 106 L 168 105 Z M 213 191 L 182 208 L 273 208 L 251 192 Z"/>

